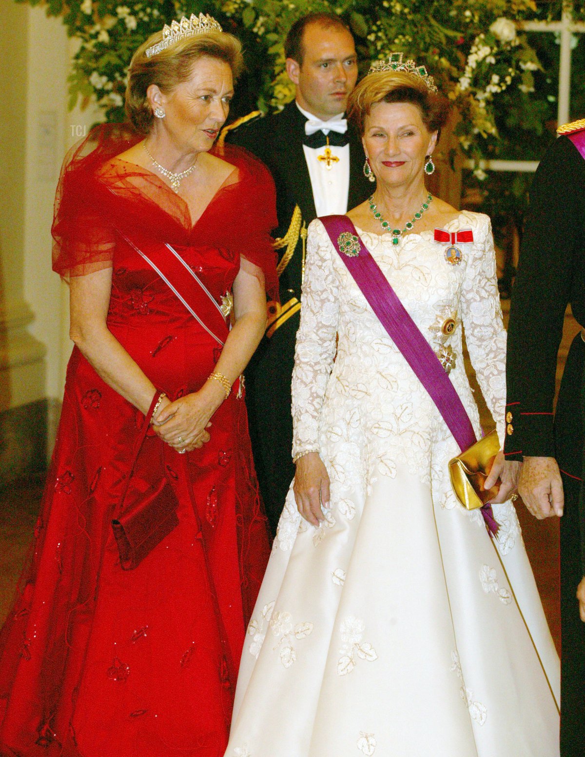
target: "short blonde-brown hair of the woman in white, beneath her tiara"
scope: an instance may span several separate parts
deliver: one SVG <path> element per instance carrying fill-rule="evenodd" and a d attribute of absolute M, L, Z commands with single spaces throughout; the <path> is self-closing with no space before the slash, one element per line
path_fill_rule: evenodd
<path fill-rule="evenodd" d="M 428 132 L 437 132 L 447 123 L 450 103 L 437 92 L 430 92 L 424 80 L 406 71 L 379 71 L 364 76 L 347 100 L 347 118 L 363 136 L 366 116 L 379 102 L 409 102 L 419 108 Z"/>

